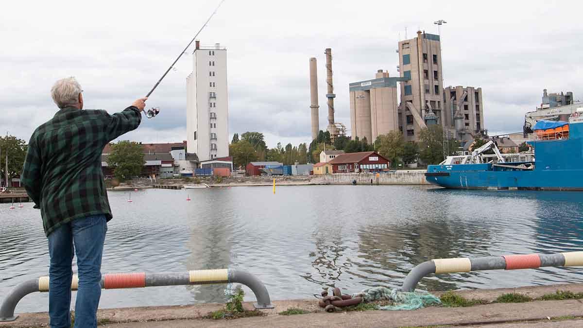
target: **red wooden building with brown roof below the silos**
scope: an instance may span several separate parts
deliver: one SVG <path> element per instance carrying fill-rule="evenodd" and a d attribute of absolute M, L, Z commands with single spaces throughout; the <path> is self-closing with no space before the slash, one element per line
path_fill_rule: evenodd
<path fill-rule="evenodd" d="M 343 153 L 328 163 L 332 164 L 332 173 L 378 172 L 391 166 L 391 162 L 377 152 Z"/>

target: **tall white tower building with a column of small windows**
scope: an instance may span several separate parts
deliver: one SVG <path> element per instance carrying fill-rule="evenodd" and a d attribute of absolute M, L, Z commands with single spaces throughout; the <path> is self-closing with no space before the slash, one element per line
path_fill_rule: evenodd
<path fill-rule="evenodd" d="M 186 79 L 189 153 L 203 162 L 229 156 L 227 50 L 196 41 L 194 69 Z"/>

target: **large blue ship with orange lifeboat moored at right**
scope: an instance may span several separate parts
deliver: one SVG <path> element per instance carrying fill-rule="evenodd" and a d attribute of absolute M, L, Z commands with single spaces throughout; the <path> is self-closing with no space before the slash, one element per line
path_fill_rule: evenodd
<path fill-rule="evenodd" d="M 489 141 L 472 155 L 448 156 L 427 166 L 427 182 L 452 189 L 583 190 L 583 113 L 567 122 L 539 121 L 528 141 L 534 156 L 510 162 Z M 495 156 L 483 155 L 488 148 Z M 521 154 L 514 154 L 521 155 Z"/>

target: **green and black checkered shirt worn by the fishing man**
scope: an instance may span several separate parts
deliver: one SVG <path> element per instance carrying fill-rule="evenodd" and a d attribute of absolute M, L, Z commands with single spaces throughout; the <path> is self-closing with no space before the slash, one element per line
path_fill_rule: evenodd
<path fill-rule="evenodd" d="M 30 137 L 20 177 L 48 235 L 73 219 L 104 214 L 112 218 L 101 172 L 104 146 L 140 125 L 130 106 L 110 115 L 104 110 L 61 109 Z"/>

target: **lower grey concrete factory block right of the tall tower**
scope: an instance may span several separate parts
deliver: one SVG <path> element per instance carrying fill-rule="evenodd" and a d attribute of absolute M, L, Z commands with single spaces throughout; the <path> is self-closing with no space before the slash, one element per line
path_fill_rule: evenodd
<path fill-rule="evenodd" d="M 449 137 L 463 140 L 463 134 L 486 135 L 482 88 L 448 86 L 443 90 L 443 98 L 442 125 L 449 131 Z M 455 117 L 458 117 L 458 125 L 455 125 Z"/>

